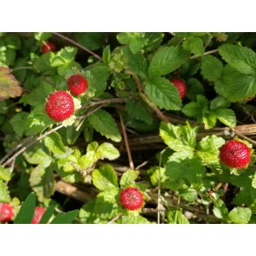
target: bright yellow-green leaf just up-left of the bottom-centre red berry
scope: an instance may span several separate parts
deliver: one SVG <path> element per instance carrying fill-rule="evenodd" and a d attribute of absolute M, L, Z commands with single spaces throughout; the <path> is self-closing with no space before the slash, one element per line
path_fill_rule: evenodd
<path fill-rule="evenodd" d="M 118 188 L 117 175 L 115 169 L 110 165 L 104 165 L 95 169 L 93 174 L 93 183 L 101 191 L 108 191 Z"/>

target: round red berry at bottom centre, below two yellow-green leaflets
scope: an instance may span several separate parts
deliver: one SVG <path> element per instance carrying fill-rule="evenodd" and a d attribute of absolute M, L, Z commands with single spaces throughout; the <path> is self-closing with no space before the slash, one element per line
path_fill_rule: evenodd
<path fill-rule="evenodd" d="M 140 209 L 143 205 L 143 196 L 136 187 L 126 187 L 121 190 L 121 206 L 130 211 Z"/>

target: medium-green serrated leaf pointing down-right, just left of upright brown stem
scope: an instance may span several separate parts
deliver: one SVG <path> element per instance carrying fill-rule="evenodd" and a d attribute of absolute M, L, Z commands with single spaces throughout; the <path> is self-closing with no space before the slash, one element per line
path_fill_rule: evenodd
<path fill-rule="evenodd" d="M 121 141 L 121 134 L 117 128 L 115 119 L 105 110 L 99 109 L 89 115 L 89 123 L 101 135 L 115 142 Z"/>

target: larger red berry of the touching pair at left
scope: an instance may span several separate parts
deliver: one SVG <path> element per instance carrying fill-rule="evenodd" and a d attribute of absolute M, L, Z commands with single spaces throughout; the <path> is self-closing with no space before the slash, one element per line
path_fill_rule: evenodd
<path fill-rule="evenodd" d="M 75 104 L 68 92 L 60 90 L 48 96 L 45 110 L 54 121 L 64 121 L 73 115 Z"/>

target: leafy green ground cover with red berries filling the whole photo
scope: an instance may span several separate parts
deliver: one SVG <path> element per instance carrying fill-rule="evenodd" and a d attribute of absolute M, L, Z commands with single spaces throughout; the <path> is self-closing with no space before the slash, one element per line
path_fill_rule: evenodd
<path fill-rule="evenodd" d="M 256 36 L 0 33 L 0 223 L 256 221 Z"/>

